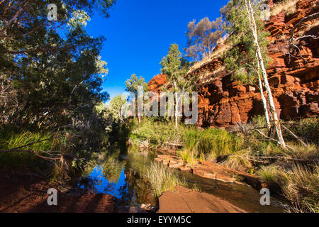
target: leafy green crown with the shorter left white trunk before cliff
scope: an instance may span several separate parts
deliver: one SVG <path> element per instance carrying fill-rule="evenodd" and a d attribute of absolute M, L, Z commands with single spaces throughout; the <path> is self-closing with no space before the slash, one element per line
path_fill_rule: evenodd
<path fill-rule="evenodd" d="M 254 46 L 254 38 L 250 30 L 250 23 L 246 11 L 238 15 L 236 1 L 230 1 L 227 6 L 220 10 L 225 19 L 225 33 L 229 35 L 228 43 L 232 45 L 223 56 L 224 65 L 228 71 L 232 72 L 232 78 L 243 84 L 257 84 L 259 87 L 262 104 L 264 107 L 264 116 L 267 122 L 267 128 L 270 130 L 271 123 L 269 120 L 269 113 L 267 107 L 267 100 L 264 96 L 264 89 L 262 84 L 262 77 L 260 73 L 260 66 L 257 60 L 256 48 Z M 243 13 L 243 14 L 242 14 Z M 262 55 L 269 62 L 267 57 L 267 32 L 263 31 L 264 24 L 258 20 L 258 35 Z"/>

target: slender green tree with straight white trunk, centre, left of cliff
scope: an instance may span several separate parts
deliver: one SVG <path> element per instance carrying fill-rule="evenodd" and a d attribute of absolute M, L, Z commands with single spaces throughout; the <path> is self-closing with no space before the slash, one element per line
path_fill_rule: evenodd
<path fill-rule="evenodd" d="M 172 44 L 169 47 L 168 54 L 162 58 L 159 63 L 162 65 L 162 74 L 166 74 L 167 82 L 172 86 L 175 92 L 175 125 L 178 126 L 179 117 L 181 113 L 179 111 L 179 104 L 177 104 L 178 94 L 177 92 L 192 91 L 194 89 L 194 77 L 186 76 L 189 71 L 189 62 L 181 56 L 179 51 L 179 45 Z"/>

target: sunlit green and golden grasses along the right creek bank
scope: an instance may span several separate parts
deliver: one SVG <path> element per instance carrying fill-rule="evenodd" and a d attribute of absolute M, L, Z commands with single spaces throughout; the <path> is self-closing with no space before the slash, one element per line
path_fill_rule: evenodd
<path fill-rule="evenodd" d="M 266 126 L 262 116 L 256 116 L 252 121 L 256 127 Z M 303 121 L 308 122 L 305 123 L 307 126 L 313 120 Z M 250 174 L 256 172 L 256 175 L 262 179 L 279 184 L 284 196 L 293 204 L 291 211 L 318 212 L 318 165 L 291 167 L 293 162 L 289 162 L 289 157 L 293 157 L 297 160 L 313 159 L 313 163 L 316 163 L 318 148 L 315 145 L 302 148 L 299 145 L 290 144 L 291 141 L 289 145 L 293 146 L 295 150 L 284 150 L 272 141 L 265 141 L 259 133 L 251 133 L 244 137 L 241 134 L 236 135 L 216 128 L 199 130 L 192 126 L 179 125 L 177 131 L 172 131 L 173 127 L 172 122 L 155 121 L 154 118 L 145 118 L 140 124 L 131 121 L 130 140 L 136 143 L 148 140 L 152 145 L 167 145 L 165 142 L 182 143 L 183 148 L 177 153 L 185 165 L 194 167 L 202 160 L 221 160 L 223 161 L 221 165 L 231 169 L 250 172 Z M 309 126 L 309 128 L 310 131 L 313 131 L 315 127 Z M 249 160 L 259 160 L 259 157 L 265 156 L 274 157 L 274 160 L 266 159 L 266 161 L 269 160 L 269 164 L 262 166 L 259 165 L 260 162 Z M 288 159 L 281 162 L 275 157 L 287 157 Z M 165 177 L 157 179 L 159 175 L 164 176 L 161 171 L 159 166 L 152 166 L 147 173 L 147 178 L 150 178 L 149 182 L 157 195 L 173 188 L 171 185 L 165 186 L 169 189 L 162 189 Z M 175 181 L 172 179 L 172 182 Z"/>

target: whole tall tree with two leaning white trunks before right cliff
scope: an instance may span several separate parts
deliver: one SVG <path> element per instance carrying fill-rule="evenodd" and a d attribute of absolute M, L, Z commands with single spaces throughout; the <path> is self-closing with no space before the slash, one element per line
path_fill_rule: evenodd
<path fill-rule="evenodd" d="M 259 1 L 232 0 L 221 10 L 227 22 L 225 32 L 228 33 L 229 42 L 233 45 L 233 49 L 228 50 L 225 55 L 225 66 L 233 72 L 233 79 L 243 83 L 258 81 L 267 126 L 270 128 L 268 99 L 279 143 L 283 148 L 286 148 L 267 78 L 267 33 L 264 32 L 258 9 Z M 264 97 L 262 79 L 267 92 L 267 99 Z"/>

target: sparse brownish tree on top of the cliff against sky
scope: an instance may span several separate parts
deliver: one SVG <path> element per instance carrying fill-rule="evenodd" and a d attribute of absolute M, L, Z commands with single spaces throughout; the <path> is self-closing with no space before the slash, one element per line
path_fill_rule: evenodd
<path fill-rule="evenodd" d="M 189 22 L 186 32 L 186 56 L 194 60 L 201 60 L 206 56 L 211 57 L 217 41 L 223 37 L 222 24 L 222 18 L 210 21 L 207 17 L 201 19 L 197 24 L 195 20 Z"/>

